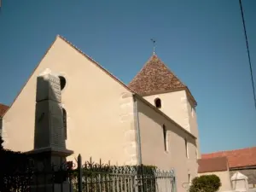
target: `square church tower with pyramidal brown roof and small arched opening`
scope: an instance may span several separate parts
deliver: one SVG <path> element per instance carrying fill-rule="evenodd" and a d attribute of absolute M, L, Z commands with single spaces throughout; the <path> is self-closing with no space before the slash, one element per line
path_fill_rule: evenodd
<path fill-rule="evenodd" d="M 199 137 L 195 98 L 157 55 L 149 58 L 128 86 L 195 137 Z M 200 158 L 199 141 L 197 148 L 196 155 Z"/>

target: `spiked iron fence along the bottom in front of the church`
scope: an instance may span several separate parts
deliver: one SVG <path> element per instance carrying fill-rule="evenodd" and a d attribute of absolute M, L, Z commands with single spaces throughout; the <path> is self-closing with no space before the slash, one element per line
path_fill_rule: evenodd
<path fill-rule="evenodd" d="M 67 162 L 50 172 L 26 168 L 5 174 L 1 192 L 175 192 L 174 171 L 154 166 L 111 166 L 91 159 Z"/>

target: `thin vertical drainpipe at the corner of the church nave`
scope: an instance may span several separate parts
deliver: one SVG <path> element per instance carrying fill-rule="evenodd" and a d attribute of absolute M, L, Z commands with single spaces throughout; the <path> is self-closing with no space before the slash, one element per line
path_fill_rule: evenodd
<path fill-rule="evenodd" d="M 138 164 L 143 164 L 142 158 L 142 143 L 141 143 L 141 133 L 140 133 L 140 122 L 139 122 L 139 115 L 137 111 L 137 100 L 136 96 L 133 95 L 133 110 L 134 110 L 134 124 L 137 129 L 137 156 L 138 156 Z"/>

